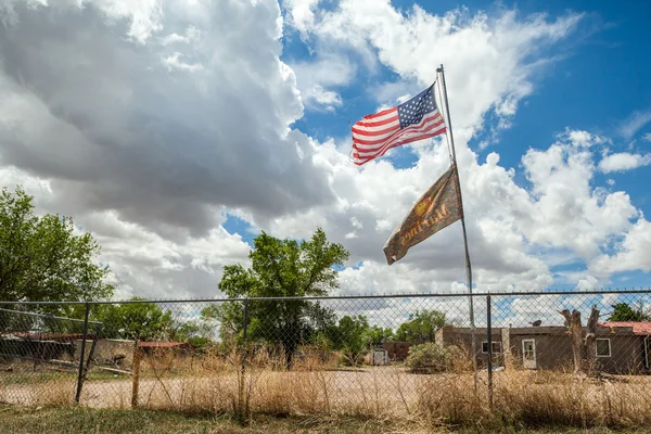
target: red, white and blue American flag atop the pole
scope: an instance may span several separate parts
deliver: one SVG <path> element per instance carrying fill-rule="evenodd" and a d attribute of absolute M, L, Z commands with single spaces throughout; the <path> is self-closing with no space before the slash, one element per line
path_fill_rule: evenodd
<path fill-rule="evenodd" d="M 361 166 L 392 148 L 445 132 L 445 123 L 434 101 L 434 85 L 411 100 L 353 126 L 353 162 Z"/>

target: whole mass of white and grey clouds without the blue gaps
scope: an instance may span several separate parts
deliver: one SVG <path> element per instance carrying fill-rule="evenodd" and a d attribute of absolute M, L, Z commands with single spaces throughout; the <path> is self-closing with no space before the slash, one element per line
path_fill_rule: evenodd
<path fill-rule="evenodd" d="M 323 227 L 358 266 L 342 272 L 342 293 L 463 291 L 459 224 L 399 264 L 386 266 L 382 253 L 447 168 L 442 138 L 410 146 L 412 167 L 383 158 L 358 168 L 347 137 L 319 143 L 290 127 L 304 104 L 340 106 L 342 89 L 374 63 L 399 76 L 380 86 L 379 105 L 413 93 L 445 64 L 478 289 L 550 285 L 559 259 L 542 251 L 604 261 L 605 271 L 583 273 L 589 283 L 588 275 L 615 269 L 604 246 L 617 255 L 635 247 L 626 240 L 640 213 L 625 192 L 593 186 L 595 148 L 609 139 L 567 129 L 518 168 L 468 148 L 492 110 L 508 125 L 551 62 L 540 50 L 571 35 L 580 15 L 405 14 L 378 0 L 319 11 L 318 1 L 294 0 L 288 13 L 314 61 L 286 65 L 272 0 L 103 1 L 84 16 L 54 3 L 3 4 L 16 20 L 11 31 L 0 27 L 10 41 L 0 44 L 0 182 L 24 183 L 43 210 L 92 231 L 120 294 L 214 294 L 224 265 L 248 260 L 246 243 L 224 229 L 226 212 L 278 237 Z"/>

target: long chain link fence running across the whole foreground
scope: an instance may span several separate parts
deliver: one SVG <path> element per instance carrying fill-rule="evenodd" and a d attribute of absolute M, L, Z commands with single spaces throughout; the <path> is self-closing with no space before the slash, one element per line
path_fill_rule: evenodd
<path fill-rule="evenodd" d="M 641 290 L 0 305 L 21 405 L 648 424 L 650 373 Z"/>

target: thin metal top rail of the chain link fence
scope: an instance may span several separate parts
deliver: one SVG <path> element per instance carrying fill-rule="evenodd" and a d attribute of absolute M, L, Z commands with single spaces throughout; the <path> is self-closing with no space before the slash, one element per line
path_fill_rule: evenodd
<path fill-rule="evenodd" d="M 115 304 L 143 304 L 143 303 L 228 303 L 228 302 L 286 302 L 286 301 L 328 301 L 328 299 L 372 299 L 372 298 L 445 298 L 445 297 L 514 297 L 539 295 L 604 295 L 604 294 L 651 294 L 649 289 L 624 290 L 593 290 L 593 291 L 513 291 L 513 292 L 475 292 L 472 294 L 461 292 L 450 293 L 416 293 L 416 294 L 361 294 L 361 295 L 320 295 L 320 296 L 291 296 L 291 297 L 237 297 L 237 298 L 152 298 L 152 299 L 116 299 L 99 302 L 11 302 L 0 301 L 0 305 L 115 305 Z M 20 311 L 20 310 L 16 310 Z M 69 318 L 63 318 L 69 319 Z M 91 321 L 92 322 L 92 321 Z"/>

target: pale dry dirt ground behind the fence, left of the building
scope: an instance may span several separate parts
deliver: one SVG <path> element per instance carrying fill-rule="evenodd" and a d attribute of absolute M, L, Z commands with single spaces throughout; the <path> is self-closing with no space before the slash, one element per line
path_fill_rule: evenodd
<path fill-rule="evenodd" d="M 352 403 L 406 409 L 416 405 L 418 391 L 426 375 L 403 368 L 374 367 L 362 370 L 248 372 L 253 400 L 309 399 L 311 405 L 346 407 Z M 0 399 L 25 406 L 65 404 L 74 398 L 76 379 L 1 385 Z M 131 405 L 130 378 L 89 380 L 84 383 L 80 404 L 90 408 L 128 408 Z M 238 394 L 238 375 L 231 373 L 171 375 L 151 373 L 139 382 L 139 404 L 146 407 L 184 407 L 200 399 L 218 403 Z M 298 406 L 301 407 L 301 406 Z M 332 408 L 331 408 L 332 409 Z"/>

